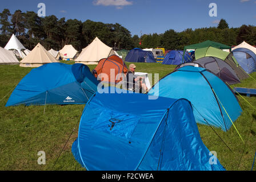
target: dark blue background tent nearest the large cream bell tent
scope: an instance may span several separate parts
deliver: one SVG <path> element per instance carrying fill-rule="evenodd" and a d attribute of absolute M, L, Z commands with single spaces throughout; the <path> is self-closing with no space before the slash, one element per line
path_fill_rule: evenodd
<path fill-rule="evenodd" d="M 133 63 L 157 63 L 151 51 L 143 51 L 141 48 L 134 48 L 129 51 L 125 61 Z"/>

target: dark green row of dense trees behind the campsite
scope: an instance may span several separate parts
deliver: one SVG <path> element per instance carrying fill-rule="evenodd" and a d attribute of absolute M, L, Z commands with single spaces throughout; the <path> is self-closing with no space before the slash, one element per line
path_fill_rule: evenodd
<path fill-rule="evenodd" d="M 40 42 L 46 49 L 61 49 L 65 44 L 72 44 L 78 51 L 85 48 L 98 36 L 107 46 L 116 49 L 156 48 L 183 49 L 184 46 L 212 40 L 229 46 L 235 46 L 243 40 L 256 45 L 256 27 L 242 25 L 230 28 L 226 20 L 221 19 L 217 27 L 191 28 L 182 32 L 173 29 L 163 34 L 131 35 L 121 24 L 109 24 L 77 19 L 58 19 L 54 15 L 39 17 L 34 11 L 15 11 L 11 14 L 8 9 L 0 13 L 0 46 L 5 47 L 14 34 L 23 46 L 33 49 Z M 171 25 L 170 25 L 171 27 Z M 141 44 L 139 44 L 141 42 Z M 116 43 L 116 44 L 115 44 Z"/>

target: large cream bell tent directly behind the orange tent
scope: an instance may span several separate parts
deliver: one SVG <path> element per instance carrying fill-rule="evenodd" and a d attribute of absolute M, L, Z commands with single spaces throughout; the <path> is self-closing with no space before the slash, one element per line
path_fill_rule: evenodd
<path fill-rule="evenodd" d="M 75 59 L 76 63 L 98 64 L 98 61 L 111 55 L 117 55 L 113 48 L 107 46 L 97 37 L 86 48 L 83 48 L 81 54 Z"/>

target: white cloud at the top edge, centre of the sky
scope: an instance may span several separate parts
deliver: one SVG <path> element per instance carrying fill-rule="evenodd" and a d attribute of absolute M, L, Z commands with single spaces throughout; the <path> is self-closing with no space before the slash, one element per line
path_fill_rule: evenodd
<path fill-rule="evenodd" d="M 93 4 L 96 6 L 115 6 L 117 9 L 122 9 L 123 6 L 133 5 L 133 2 L 127 0 L 95 0 Z"/>

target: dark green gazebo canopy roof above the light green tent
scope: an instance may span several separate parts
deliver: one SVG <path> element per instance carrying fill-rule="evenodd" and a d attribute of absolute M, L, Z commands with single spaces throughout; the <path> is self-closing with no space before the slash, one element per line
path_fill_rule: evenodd
<path fill-rule="evenodd" d="M 209 47 L 209 46 L 215 47 L 215 48 L 218 48 L 218 49 L 230 49 L 231 50 L 230 46 L 226 46 L 225 44 L 221 44 L 221 43 L 218 43 L 218 42 L 213 42 L 211 40 L 206 40 L 205 42 L 202 42 L 202 43 L 192 44 L 190 46 L 185 46 L 184 51 L 186 51 L 186 49 L 198 49 L 198 48 L 204 48 L 204 47 Z"/>

